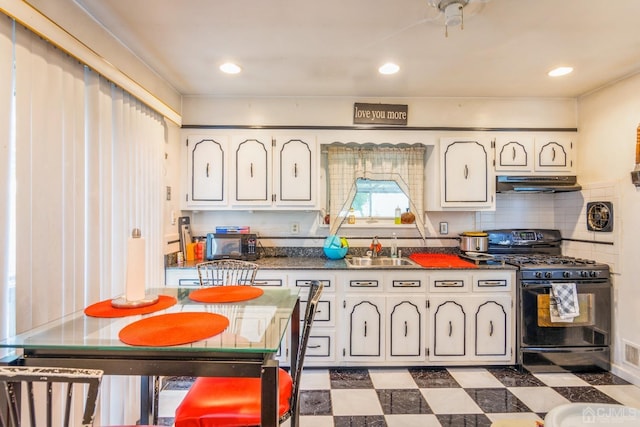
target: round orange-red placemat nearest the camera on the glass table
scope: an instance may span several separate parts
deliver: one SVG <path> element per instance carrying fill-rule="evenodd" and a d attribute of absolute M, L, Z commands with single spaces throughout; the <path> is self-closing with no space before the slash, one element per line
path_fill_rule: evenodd
<path fill-rule="evenodd" d="M 168 313 L 137 320 L 120 330 L 120 341 L 136 346 L 188 344 L 212 337 L 229 326 L 229 319 L 215 313 Z"/>

